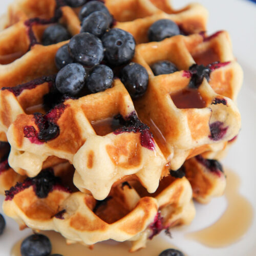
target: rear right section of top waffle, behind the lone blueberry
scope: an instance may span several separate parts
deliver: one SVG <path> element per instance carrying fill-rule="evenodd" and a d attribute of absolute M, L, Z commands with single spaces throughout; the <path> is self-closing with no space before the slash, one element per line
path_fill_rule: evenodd
<path fill-rule="evenodd" d="M 199 4 L 181 10 L 174 10 L 167 0 L 108 0 L 105 4 L 117 20 L 115 27 L 130 32 L 137 44 L 148 41 L 147 30 L 159 19 L 173 20 L 188 34 L 206 30 L 208 12 Z"/>

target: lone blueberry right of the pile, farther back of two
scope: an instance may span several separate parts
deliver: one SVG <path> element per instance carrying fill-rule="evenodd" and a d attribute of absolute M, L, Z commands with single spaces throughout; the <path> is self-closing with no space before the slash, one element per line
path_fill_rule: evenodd
<path fill-rule="evenodd" d="M 178 25 L 169 19 L 159 19 L 148 29 L 148 39 L 150 41 L 162 41 L 166 37 L 180 34 Z"/>

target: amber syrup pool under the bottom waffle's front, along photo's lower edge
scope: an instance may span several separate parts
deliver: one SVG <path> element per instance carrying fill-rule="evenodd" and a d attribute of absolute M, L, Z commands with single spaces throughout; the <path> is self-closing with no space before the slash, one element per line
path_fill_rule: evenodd
<path fill-rule="evenodd" d="M 91 250 L 88 247 L 81 244 L 67 245 L 66 240 L 59 234 L 54 231 L 44 231 L 41 232 L 45 234 L 52 243 L 52 254 L 59 253 L 63 256 L 95 256 L 95 255 L 104 255 L 104 256 L 158 256 L 163 250 L 168 248 L 177 248 L 176 246 L 169 243 L 168 238 L 163 239 L 160 237 L 155 237 L 153 240 L 147 241 L 147 246 L 145 249 L 141 249 L 137 252 L 131 254 L 129 252 L 129 242 L 101 242 L 94 246 L 94 249 Z M 20 245 L 23 240 L 18 241 L 11 250 L 11 256 L 21 256 L 20 254 Z M 184 251 L 183 251 L 184 253 Z M 186 256 L 186 254 L 184 253 Z"/>

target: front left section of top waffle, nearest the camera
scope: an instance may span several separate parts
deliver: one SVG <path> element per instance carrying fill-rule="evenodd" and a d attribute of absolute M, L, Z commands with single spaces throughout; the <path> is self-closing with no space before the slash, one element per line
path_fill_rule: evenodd
<path fill-rule="evenodd" d="M 151 133 L 143 127 L 136 128 L 136 131 L 130 127 L 131 132 L 114 132 L 108 123 L 116 115 L 121 115 L 123 121 L 136 117 L 130 95 L 120 80 L 116 79 L 113 88 L 105 92 L 68 99 L 51 110 L 46 119 L 58 125 L 59 135 L 47 143 L 37 139 L 42 129 L 39 123 L 45 120 L 43 115 L 24 113 L 30 105 L 26 105 L 23 99 L 36 92 L 41 99 L 40 93 L 49 90 L 48 83 L 25 89 L 18 96 L 13 90 L 15 88 L 2 90 L 0 98 L 5 100 L 7 109 L 14 116 L 12 118 L 9 112 L 5 112 L 1 122 L 4 131 L 11 124 L 8 129 L 8 141 L 12 145 L 9 164 L 16 172 L 34 177 L 43 163 L 54 156 L 73 163 L 77 170 L 75 185 L 82 191 L 89 189 L 98 200 L 108 196 L 112 185 L 119 179 L 132 175 L 151 193 L 157 189 L 165 159 Z M 35 102 L 40 103 L 36 99 Z"/>

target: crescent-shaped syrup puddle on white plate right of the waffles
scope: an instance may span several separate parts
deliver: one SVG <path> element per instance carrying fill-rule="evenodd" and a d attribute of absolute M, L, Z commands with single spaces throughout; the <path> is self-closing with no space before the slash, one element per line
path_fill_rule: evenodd
<path fill-rule="evenodd" d="M 250 227 L 253 209 L 249 201 L 239 194 L 239 176 L 230 170 L 226 175 L 225 196 L 228 205 L 224 214 L 211 226 L 186 234 L 186 238 L 209 247 L 224 247 L 237 242 Z"/>

